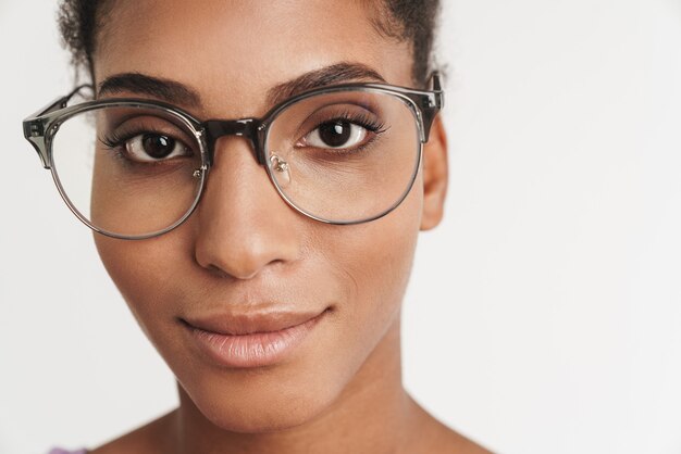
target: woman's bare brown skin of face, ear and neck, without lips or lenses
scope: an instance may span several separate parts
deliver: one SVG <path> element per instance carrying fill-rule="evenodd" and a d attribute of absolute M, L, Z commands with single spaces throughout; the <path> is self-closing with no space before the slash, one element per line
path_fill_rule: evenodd
<path fill-rule="evenodd" d="M 342 62 L 412 85 L 409 43 L 381 36 L 367 2 L 344 3 L 333 17 L 327 2 L 302 0 L 267 8 L 120 0 L 114 12 L 94 55 L 96 83 L 141 73 L 182 84 L 200 99 L 179 106 L 199 118 L 260 116 L 273 87 Z M 102 93 L 119 96 L 150 98 Z M 221 139 L 215 156 L 201 204 L 185 224 L 151 240 L 95 237 L 109 274 L 175 374 L 181 405 L 94 453 L 488 452 L 424 412 L 401 383 L 401 299 L 418 234 L 439 223 L 446 194 L 442 122 L 403 204 L 355 226 L 293 211 L 247 142 Z M 267 368 L 212 367 L 193 354 L 176 323 L 246 295 L 282 294 L 326 315 L 295 355 Z"/>

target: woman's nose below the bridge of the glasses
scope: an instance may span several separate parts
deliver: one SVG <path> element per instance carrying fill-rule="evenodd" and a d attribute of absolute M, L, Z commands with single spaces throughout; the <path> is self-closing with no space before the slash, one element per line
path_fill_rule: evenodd
<path fill-rule="evenodd" d="M 215 142 L 213 165 L 197 209 L 195 256 L 211 270 L 251 279 L 298 258 L 300 222 L 278 196 L 244 138 Z"/>

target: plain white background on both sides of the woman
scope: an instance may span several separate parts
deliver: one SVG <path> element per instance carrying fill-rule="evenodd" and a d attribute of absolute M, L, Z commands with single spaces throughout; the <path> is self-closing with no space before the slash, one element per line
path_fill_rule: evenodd
<path fill-rule="evenodd" d="M 681 2 L 445 2 L 449 199 L 405 302 L 406 386 L 502 453 L 681 453 Z M 54 10 L 0 0 L 2 454 L 176 404 L 22 137 L 72 86 Z"/>

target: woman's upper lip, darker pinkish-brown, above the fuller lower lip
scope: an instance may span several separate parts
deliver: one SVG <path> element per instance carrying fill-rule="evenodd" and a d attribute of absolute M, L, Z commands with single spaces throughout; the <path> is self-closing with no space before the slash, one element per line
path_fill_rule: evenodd
<path fill-rule="evenodd" d="M 222 312 L 196 317 L 183 317 L 182 320 L 194 328 L 219 335 L 253 335 L 275 332 L 301 325 L 320 316 L 322 312 Z"/>

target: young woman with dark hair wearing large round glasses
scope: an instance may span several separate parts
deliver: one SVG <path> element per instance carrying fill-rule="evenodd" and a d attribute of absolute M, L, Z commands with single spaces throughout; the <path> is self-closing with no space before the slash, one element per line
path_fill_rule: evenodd
<path fill-rule="evenodd" d="M 92 453 L 487 452 L 400 376 L 447 185 L 436 9 L 64 2 L 96 101 L 76 90 L 24 133 L 181 401 Z"/>

